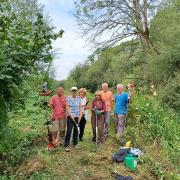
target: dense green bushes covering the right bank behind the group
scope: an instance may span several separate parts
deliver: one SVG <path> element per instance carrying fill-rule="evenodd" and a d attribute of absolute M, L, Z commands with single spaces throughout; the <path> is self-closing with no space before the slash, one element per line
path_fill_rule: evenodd
<path fill-rule="evenodd" d="M 90 3 L 85 2 L 82 3 L 84 6 Z M 138 89 L 146 89 L 146 93 L 150 93 L 148 89 L 153 84 L 160 101 L 178 111 L 179 6 L 177 0 L 162 2 L 150 21 L 150 37 L 158 54 L 152 49 L 142 51 L 138 39 L 126 41 L 112 48 L 97 49 L 96 55 L 93 54 L 87 62 L 72 70 L 70 78 L 77 86 L 87 87 L 91 91 L 98 89 L 102 82 L 108 82 L 111 87 L 117 83 L 133 82 Z"/>

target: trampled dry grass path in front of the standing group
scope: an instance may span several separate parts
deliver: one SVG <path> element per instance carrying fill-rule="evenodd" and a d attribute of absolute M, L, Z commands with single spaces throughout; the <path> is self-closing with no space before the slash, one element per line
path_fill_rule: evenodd
<path fill-rule="evenodd" d="M 112 130 L 111 130 L 112 131 Z M 112 132 L 111 132 L 112 133 Z M 114 136 L 114 134 L 110 134 Z M 80 149 L 71 146 L 70 152 L 65 152 L 60 146 L 52 151 L 45 149 L 46 144 L 37 147 L 28 159 L 18 168 L 17 174 L 21 177 L 50 179 L 114 179 L 111 173 L 117 171 L 121 175 L 141 179 L 140 168 L 135 172 L 128 171 L 123 163 L 112 162 L 112 153 L 116 152 L 118 145 L 109 137 L 104 145 L 96 149 L 91 142 L 91 124 L 86 124 L 84 141 L 80 142 Z M 44 138 L 42 138 L 44 139 Z"/>

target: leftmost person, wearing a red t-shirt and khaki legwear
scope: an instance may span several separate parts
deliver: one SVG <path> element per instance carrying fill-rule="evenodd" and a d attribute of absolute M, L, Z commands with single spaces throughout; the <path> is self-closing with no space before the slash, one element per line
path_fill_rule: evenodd
<path fill-rule="evenodd" d="M 66 129 L 66 97 L 64 96 L 64 88 L 59 87 L 49 101 L 48 106 L 52 108 L 52 135 L 53 144 L 57 145 L 57 133 L 59 131 L 59 144 L 63 145 Z"/>

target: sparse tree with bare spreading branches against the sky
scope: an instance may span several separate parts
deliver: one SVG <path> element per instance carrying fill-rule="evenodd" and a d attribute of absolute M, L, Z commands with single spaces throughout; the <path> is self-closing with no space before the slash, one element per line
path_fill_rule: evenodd
<path fill-rule="evenodd" d="M 104 48 L 127 38 L 138 38 L 142 47 L 156 50 L 150 38 L 150 20 L 159 1 L 155 2 L 80 0 L 75 3 L 75 18 L 82 35 L 95 46 Z"/>

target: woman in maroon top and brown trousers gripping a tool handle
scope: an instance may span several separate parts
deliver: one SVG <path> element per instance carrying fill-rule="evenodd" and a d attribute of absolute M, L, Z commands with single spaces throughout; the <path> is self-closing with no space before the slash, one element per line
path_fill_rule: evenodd
<path fill-rule="evenodd" d="M 106 110 L 105 102 L 102 100 L 102 94 L 100 91 L 96 91 L 95 99 L 91 105 L 91 124 L 93 131 L 92 141 L 96 141 L 96 126 L 98 128 L 98 144 L 102 144 L 104 141 L 104 112 Z M 97 119 L 96 119 L 97 118 Z M 97 124 L 96 124 L 97 120 Z"/>

